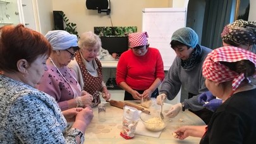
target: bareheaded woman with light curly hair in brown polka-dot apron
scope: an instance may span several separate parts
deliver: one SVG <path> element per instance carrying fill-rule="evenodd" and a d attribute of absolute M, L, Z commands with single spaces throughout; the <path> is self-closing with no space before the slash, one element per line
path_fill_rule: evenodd
<path fill-rule="evenodd" d="M 75 70 L 81 88 L 94 97 L 91 106 L 97 106 L 101 103 L 99 92 L 102 92 L 102 97 L 106 100 L 111 97 L 102 80 L 102 66 L 97 58 L 101 48 L 101 39 L 92 31 L 88 31 L 82 33 L 78 46 L 81 48 L 80 52 L 68 66 Z"/>

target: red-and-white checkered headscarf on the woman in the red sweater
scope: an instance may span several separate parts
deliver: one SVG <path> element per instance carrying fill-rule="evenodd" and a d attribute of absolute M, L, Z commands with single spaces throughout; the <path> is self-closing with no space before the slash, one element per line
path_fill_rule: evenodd
<path fill-rule="evenodd" d="M 147 45 L 147 32 L 131 33 L 128 35 L 129 47 L 134 48 L 142 45 Z"/>

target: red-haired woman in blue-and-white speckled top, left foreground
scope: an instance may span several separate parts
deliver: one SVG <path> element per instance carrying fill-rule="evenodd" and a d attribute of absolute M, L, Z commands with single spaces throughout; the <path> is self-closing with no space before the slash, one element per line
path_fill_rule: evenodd
<path fill-rule="evenodd" d="M 0 35 L 0 143 L 83 143 L 92 109 L 61 113 L 51 96 L 35 89 L 47 70 L 50 43 L 23 25 L 3 26 Z M 67 121 L 74 124 L 65 131 Z"/>

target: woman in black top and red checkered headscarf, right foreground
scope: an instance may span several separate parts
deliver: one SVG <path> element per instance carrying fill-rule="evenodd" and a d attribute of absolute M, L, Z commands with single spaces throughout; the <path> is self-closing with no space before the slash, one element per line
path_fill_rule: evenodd
<path fill-rule="evenodd" d="M 208 126 L 182 126 L 177 138 L 202 138 L 203 143 L 243 143 L 256 141 L 256 86 L 248 77 L 256 76 L 256 55 L 237 47 L 213 50 L 203 65 L 205 84 L 224 102 L 212 115 Z M 253 142 L 254 141 L 254 142 Z"/>

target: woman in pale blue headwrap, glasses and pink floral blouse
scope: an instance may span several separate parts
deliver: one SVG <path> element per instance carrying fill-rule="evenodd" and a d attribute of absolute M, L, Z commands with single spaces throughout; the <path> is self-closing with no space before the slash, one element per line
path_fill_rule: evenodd
<path fill-rule="evenodd" d="M 62 111 L 91 104 L 92 96 L 81 91 L 75 72 L 67 67 L 79 49 L 76 35 L 54 30 L 48 31 L 46 39 L 51 43 L 52 53 L 46 61 L 48 70 L 37 88 L 54 97 Z"/>

